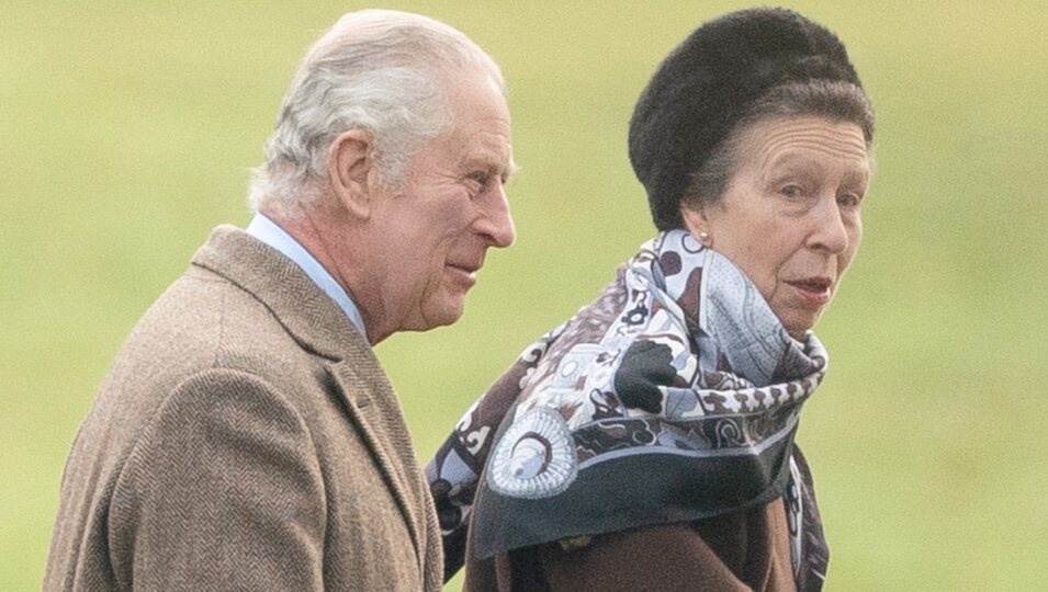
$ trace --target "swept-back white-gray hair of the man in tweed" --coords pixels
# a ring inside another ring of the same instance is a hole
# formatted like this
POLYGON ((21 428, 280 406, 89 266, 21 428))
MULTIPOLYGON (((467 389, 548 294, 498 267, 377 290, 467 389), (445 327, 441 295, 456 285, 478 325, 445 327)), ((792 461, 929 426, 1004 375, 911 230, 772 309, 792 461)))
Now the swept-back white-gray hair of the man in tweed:
POLYGON ((489 77, 495 61, 451 26, 418 14, 343 15, 306 53, 284 95, 266 162, 251 171, 248 202, 288 217, 312 209, 327 186, 327 152, 341 133, 368 132, 381 182, 396 190, 415 151, 451 125, 453 75, 489 77))

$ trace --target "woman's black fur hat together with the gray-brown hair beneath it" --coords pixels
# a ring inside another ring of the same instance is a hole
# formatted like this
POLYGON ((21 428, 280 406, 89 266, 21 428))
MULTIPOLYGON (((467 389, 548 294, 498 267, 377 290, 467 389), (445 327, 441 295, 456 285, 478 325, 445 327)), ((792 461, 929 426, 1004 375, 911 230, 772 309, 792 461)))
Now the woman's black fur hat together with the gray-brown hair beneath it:
POLYGON ((867 144, 872 140, 872 110, 847 50, 819 23, 791 10, 758 8, 688 35, 652 76, 630 119, 630 162, 655 226, 683 227, 680 202, 692 189, 719 197, 733 160, 728 138, 744 118, 776 113, 854 121, 867 144), (858 100, 846 99, 856 93, 858 100), (866 115, 853 118, 855 113, 866 115), (711 159, 726 161, 708 167, 711 159))

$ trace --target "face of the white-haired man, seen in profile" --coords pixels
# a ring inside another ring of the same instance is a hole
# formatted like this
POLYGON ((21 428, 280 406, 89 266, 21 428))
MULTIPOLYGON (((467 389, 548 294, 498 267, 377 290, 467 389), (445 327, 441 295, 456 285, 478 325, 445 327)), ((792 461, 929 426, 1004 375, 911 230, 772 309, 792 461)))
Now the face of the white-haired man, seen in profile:
POLYGON ((458 320, 488 247, 514 241, 504 190, 512 172, 506 101, 487 77, 450 86, 451 130, 418 150, 403 191, 374 200, 369 251, 375 260, 364 263, 371 273, 360 296, 391 331, 458 320))

